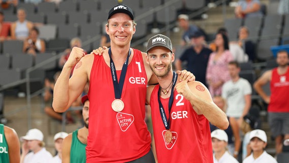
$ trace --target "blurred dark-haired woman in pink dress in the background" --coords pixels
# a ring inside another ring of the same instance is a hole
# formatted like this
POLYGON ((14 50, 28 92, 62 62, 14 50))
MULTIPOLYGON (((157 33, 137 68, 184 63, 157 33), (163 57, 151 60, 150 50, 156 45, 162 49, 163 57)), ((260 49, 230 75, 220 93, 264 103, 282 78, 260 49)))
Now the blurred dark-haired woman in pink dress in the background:
POLYGON ((226 35, 217 34, 215 44, 217 50, 209 57, 206 73, 206 80, 212 97, 221 95, 223 84, 230 79, 228 63, 233 60, 226 35))

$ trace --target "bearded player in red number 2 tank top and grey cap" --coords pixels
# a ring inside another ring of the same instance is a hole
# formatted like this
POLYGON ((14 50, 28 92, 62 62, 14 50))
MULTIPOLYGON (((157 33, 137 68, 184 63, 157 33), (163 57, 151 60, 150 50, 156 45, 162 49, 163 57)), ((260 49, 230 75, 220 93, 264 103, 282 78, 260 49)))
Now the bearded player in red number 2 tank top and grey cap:
POLYGON ((204 84, 178 80, 171 68, 175 54, 168 37, 150 38, 147 53, 147 63, 159 83, 147 89, 158 161, 213 162, 209 122, 226 129, 225 113, 204 84))

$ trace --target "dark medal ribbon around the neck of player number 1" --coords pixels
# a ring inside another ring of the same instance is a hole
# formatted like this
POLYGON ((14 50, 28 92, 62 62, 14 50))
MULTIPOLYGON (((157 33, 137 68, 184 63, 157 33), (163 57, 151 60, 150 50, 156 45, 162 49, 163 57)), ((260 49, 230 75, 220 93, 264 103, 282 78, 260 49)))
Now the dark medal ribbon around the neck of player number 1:
POLYGON ((111 58, 111 49, 110 48, 108 49, 108 55, 110 58, 110 71, 111 71, 111 76, 112 76, 115 99, 121 99, 122 97, 122 92, 123 92, 123 87, 124 87, 124 82, 125 82, 125 77, 126 77, 126 72, 127 72, 127 66, 128 66, 128 59, 130 57, 130 54, 131 54, 131 50, 129 48, 126 62, 124 63, 123 68, 122 68, 122 73, 121 73, 120 83, 119 83, 117 71, 115 70, 115 66, 111 58))

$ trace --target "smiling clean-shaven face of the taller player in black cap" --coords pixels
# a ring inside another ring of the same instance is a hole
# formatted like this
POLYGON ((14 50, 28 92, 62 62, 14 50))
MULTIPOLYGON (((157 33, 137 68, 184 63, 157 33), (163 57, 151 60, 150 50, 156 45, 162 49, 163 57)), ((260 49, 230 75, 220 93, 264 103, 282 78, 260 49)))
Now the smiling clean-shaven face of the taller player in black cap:
POLYGON ((113 46, 130 45, 133 34, 135 33, 135 25, 129 15, 125 13, 114 14, 108 19, 105 26, 106 33, 110 37, 110 43, 113 46))

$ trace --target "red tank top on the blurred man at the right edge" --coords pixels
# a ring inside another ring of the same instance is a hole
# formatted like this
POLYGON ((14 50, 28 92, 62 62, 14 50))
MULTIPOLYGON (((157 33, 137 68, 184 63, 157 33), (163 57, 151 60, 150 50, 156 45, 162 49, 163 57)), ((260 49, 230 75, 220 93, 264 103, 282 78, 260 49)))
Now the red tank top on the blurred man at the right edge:
POLYGON ((270 103, 268 112, 289 112, 289 71, 279 75, 277 68, 272 70, 272 79, 270 83, 270 103))

